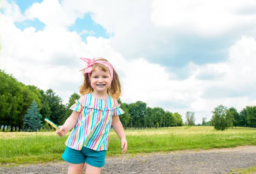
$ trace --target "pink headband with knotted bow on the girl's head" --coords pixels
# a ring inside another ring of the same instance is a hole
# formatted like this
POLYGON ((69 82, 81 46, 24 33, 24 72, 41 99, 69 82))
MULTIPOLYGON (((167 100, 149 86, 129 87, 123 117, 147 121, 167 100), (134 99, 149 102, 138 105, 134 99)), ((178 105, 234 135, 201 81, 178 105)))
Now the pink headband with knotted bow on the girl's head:
POLYGON ((105 65, 106 67, 108 67, 108 69, 110 71, 111 81, 113 80, 113 72, 114 72, 114 70, 113 70, 113 67, 110 65, 110 63, 108 63, 106 61, 102 61, 102 60, 95 61, 95 58, 87 59, 87 58, 80 57, 80 59, 82 59, 84 62, 87 63, 87 67, 84 69, 84 74, 88 73, 89 80, 90 80, 90 73, 93 70, 92 66, 94 64, 96 64, 96 63, 102 64, 102 65, 105 65))

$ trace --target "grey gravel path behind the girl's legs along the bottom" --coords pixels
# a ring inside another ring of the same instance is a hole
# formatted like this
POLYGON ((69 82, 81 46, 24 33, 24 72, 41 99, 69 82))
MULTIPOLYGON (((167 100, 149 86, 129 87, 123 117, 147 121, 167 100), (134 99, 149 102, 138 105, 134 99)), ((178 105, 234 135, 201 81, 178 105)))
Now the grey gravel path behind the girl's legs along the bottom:
MULTIPOLYGON (((256 166, 256 146, 107 157, 102 174, 228 174, 256 166)), ((1 174, 66 174, 65 162, 0 168, 1 174)))

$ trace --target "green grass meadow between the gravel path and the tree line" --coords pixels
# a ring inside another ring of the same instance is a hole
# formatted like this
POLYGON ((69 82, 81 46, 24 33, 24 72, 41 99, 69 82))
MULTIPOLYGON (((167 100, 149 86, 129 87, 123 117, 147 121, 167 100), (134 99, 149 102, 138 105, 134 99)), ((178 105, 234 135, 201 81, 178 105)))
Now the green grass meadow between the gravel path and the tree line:
MULTIPOLYGON (((256 145, 256 130, 217 131, 211 126, 125 130, 129 154, 169 152, 182 149, 212 149, 256 145)), ((61 160, 67 136, 55 132, 0 132, 1 165, 19 165, 61 160)), ((107 156, 120 155, 121 145, 111 129, 107 156)))

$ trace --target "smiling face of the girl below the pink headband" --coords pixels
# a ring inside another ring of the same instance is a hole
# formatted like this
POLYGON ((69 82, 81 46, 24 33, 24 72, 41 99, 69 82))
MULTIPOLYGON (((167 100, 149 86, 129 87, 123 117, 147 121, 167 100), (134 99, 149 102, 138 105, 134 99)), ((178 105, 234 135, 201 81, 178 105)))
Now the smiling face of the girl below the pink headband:
POLYGON ((96 68, 96 70, 90 74, 90 84, 95 91, 107 92, 111 85, 110 72, 100 71, 99 68, 96 68))

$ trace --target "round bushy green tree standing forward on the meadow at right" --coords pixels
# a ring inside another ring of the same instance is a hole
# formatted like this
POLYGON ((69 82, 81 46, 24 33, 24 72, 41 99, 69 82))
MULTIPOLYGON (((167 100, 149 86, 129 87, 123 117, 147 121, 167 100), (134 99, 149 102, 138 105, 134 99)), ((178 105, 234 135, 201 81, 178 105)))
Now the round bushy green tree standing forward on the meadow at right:
POLYGON ((233 125, 233 117, 222 104, 214 108, 211 122, 215 129, 225 130, 233 125))

